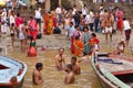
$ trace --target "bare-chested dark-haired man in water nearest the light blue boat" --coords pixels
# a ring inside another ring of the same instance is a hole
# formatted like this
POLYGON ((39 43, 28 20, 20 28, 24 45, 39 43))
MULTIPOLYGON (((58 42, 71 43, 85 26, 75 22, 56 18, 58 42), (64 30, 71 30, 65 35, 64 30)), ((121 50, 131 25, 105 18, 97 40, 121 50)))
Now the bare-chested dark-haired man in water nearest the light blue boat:
POLYGON ((33 70, 32 74, 32 80, 34 85, 41 85, 43 82, 42 76, 41 76, 41 70, 43 69, 43 64, 42 63, 37 63, 35 64, 35 69, 33 70))

